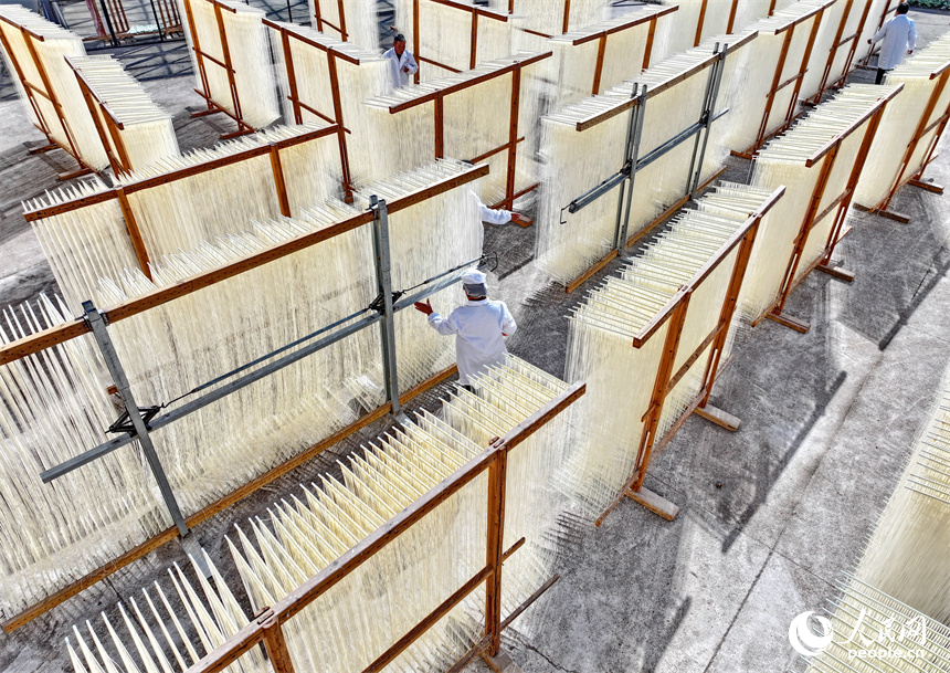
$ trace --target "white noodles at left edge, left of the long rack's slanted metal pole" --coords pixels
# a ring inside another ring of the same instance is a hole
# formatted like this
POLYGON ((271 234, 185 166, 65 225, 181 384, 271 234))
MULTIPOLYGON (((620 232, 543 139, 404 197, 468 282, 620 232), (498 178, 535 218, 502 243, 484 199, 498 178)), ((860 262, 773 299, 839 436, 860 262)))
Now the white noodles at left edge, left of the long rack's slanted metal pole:
MULTIPOLYGON (((41 296, 4 309, 0 343, 68 318, 41 296)), ((19 612, 168 527, 136 446, 52 484, 40 472, 107 441, 118 416, 89 338, 0 367, 0 607, 19 612)))

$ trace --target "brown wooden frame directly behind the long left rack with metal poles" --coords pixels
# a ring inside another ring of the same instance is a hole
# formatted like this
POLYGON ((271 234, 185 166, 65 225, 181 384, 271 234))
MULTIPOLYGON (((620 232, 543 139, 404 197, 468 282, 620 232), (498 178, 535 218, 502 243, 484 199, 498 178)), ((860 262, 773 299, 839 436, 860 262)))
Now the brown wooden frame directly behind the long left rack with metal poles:
POLYGON ((277 203, 281 208, 281 214, 289 218, 292 215, 291 203, 287 196, 286 182, 284 180, 284 169, 281 162, 281 150, 287 147, 293 147, 295 145, 300 145, 303 143, 308 143, 310 140, 316 140, 318 138, 323 138, 325 136, 334 134, 337 134, 336 126, 328 126, 326 128, 312 130, 305 134, 300 134, 299 136, 295 136, 293 138, 285 138, 284 140, 268 143, 260 147, 252 147, 251 149, 221 157, 219 159, 210 159, 208 161, 202 161, 201 164, 196 164, 194 166, 189 166, 151 178, 145 178, 137 182, 131 182, 129 185, 125 185, 118 188, 106 189, 88 197, 82 197, 72 201, 65 201, 63 203, 57 203, 49 208, 41 208, 39 210, 25 213, 23 218, 28 222, 32 222, 35 220, 51 218, 74 210, 80 210, 82 208, 86 208, 87 206, 94 206, 96 203, 103 203, 115 199, 116 201, 118 201, 119 209, 123 214, 123 220, 125 221, 126 231, 128 232, 129 240, 131 242, 133 249, 135 250, 136 259, 138 260, 139 269, 141 269, 141 272, 149 280, 151 280, 151 271, 148 267, 150 260, 149 253, 145 245, 145 241, 141 238, 141 231, 139 230, 135 211, 129 203, 128 194, 135 193, 137 191, 151 189, 160 185, 168 185, 169 182, 175 182, 176 180, 181 180, 183 178, 190 178, 192 176, 208 172, 209 170, 223 168, 224 166, 240 164, 241 161, 246 161, 247 159, 253 159, 254 157, 270 155, 271 171, 274 178, 274 190, 277 196, 277 203))

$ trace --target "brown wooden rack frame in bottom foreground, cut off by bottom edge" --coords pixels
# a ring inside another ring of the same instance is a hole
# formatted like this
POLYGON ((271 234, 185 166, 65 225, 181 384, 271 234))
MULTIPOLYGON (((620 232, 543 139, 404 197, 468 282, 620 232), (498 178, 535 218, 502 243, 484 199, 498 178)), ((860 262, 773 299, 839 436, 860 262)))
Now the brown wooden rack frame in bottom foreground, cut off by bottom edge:
MULTIPOLYGON (((270 608, 265 608, 251 623, 215 648, 210 654, 191 666, 188 673, 218 673, 249 652, 252 648, 263 644, 275 673, 294 673, 294 662, 287 648, 282 624, 326 593, 331 587, 344 580, 372 556, 383 549, 393 539, 412 528, 422 518, 448 500, 452 495, 472 483, 481 474, 488 472, 488 488, 486 508, 488 525, 486 532, 486 564, 468 581, 435 608, 419 624, 397 640, 376 661, 367 666, 363 673, 378 673, 390 662, 415 642, 425 631, 461 603, 473 591, 485 583, 485 635, 468 651, 450 672, 461 671, 476 656, 484 655, 490 660, 499 656, 502 632, 537 600, 555 581, 553 576, 516 608, 507 618, 502 618, 503 562, 520 547, 521 540, 510 549, 503 547, 505 539, 505 508, 507 491, 508 453, 541 429, 551 419, 567 409, 585 390, 584 383, 574 383, 540 410, 532 413, 505 437, 496 440, 485 451, 468 461, 451 476, 432 487, 425 495, 412 505, 397 514, 380 526, 368 537, 360 540, 349 551, 327 566, 324 570, 309 578, 300 587, 270 608)), ((498 667, 496 666, 496 670, 498 667)), ((303 672, 302 672, 303 673, 303 672)))

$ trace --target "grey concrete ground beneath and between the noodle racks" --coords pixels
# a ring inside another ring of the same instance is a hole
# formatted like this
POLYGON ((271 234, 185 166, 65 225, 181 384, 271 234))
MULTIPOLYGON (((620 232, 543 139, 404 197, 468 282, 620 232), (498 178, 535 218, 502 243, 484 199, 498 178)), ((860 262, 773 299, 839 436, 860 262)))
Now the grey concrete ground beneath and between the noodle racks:
MULTIPOLYGON (((914 18, 921 41, 950 25, 946 13, 914 18)), ((214 140, 223 122, 190 119, 183 109, 199 104, 189 78, 148 86, 175 111, 183 148, 214 140)), ((30 133, 19 104, 0 101, 0 305, 55 287, 19 201, 55 187, 68 161, 57 151, 27 155, 21 143, 33 139, 30 133)), ((928 179, 950 185, 948 157, 928 169, 928 179)), ((745 181, 748 167, 733 159, 727 177, 745 181)), ((526 673, 789 669, 792 618, 826 607, 841 574, 858 559, 950 359, 950 208, 946 197, 916 188, 902 190, 894 208, 909 213, 910 223, 854 215, 836 255, 857 272, 853 284, 814 273, 793 293, 788 311, 811 320, 806 335, 769 320, 741 335, 712 399, 742 419, 740 430, 728 433, 694 417, 655 456, 646 485, 682 507, 677 519, 667 523, 626 501, 601 528, 582 532, 561 580, 504 638, 526 673)), ((486 249, 499 254, 496 294, 520 325, 509 348, 560 375, 563 316, 583 288, 566 295, 539 285, 529 263, 532 240, 530 229, 496 227, 486 249)), ((418 403, 435 406, 439 392, 418 403)), ((221 536, 234 522, 262 514, 383 429, 383 422, 368 428, 193 536, 231 568, 221 536)), ((0 671, 66 670, 62 639, 72 624, 97 619, 99 610, 115 613, 116 601, 182 559, 179 545, 167 545, 0 634, 0 671)), ((481 662, 468 667, 483 671, 481 662)))

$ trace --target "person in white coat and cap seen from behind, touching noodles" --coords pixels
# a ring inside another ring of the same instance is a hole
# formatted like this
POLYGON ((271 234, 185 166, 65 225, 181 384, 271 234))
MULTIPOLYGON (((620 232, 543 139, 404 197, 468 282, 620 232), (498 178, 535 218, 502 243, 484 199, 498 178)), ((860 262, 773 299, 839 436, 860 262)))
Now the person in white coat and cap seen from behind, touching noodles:
POLYGON ((505 337, 515 334, 518 326, 505 302, 488 299, 485 274, 467 271, 462 275, 462 287, 468 303, 457 307, 447 318, 432 309, 432 304, 416 302, 415 308, 429 316, 429 324, 443 335, 455 335, 455 358, 458 362, 458 382, 472 390, 474 375, 484 374, 505 359, 505 337))

